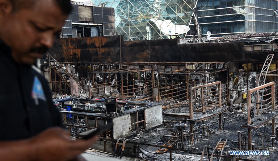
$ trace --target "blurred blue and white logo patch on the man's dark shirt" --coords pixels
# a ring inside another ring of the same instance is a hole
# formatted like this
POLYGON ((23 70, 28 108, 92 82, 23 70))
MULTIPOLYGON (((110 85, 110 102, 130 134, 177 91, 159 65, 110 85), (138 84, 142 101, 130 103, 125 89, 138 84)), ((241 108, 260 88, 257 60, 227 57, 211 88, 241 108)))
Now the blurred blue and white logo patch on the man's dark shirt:
POLYGON ((40 80, 37 76, 34 78, 33 88, 32 88, 32 98, 35 100, 35 104, 38 105, 38 99, 46 101, 44 95, 44 89, 40 83, 40 80))

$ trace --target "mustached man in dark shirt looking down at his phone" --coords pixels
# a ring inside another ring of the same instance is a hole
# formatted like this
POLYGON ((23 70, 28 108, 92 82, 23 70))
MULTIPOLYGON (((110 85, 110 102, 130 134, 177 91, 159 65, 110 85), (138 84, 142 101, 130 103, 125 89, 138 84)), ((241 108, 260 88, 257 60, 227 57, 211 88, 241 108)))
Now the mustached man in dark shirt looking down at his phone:
POLYGON ((71 11, 70 0, 0 0, 0 160, 75 159, 47 81, 34 69, 71 11))

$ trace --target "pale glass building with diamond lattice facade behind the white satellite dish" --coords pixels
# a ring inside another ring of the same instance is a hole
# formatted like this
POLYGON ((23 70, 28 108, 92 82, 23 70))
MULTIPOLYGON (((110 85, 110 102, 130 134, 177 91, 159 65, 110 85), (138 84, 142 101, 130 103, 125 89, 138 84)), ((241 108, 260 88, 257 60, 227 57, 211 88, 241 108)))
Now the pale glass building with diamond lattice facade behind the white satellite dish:
POLYGON ((174 24, 189 25, 196 0, 92 0, 94 6, 115 8, 118 34, 124 40, 169 39, 150 21, 171 20, 174 24))

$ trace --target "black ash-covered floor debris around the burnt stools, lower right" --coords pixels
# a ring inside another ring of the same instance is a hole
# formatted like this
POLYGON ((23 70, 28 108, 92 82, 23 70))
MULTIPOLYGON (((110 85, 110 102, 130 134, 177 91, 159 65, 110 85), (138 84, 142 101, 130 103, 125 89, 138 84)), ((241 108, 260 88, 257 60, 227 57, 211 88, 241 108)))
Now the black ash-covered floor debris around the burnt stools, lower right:
MULTIPOLYGON (((187 109, 187 106, 183 106, 181 109, 183 109, 183 111, 186 112, 185 109, 187 109)), ((173 109, 166 109, 164 110, 164 112, 177 112, 179 111, 178 108, 173 108, 173 109)), ((227 111, 225 111, 223 114, 223 118, 226 119, 225 124, 223 125, 223 130, 219 130, 218 129, 218 117, 214 117, 214 118, 209 118, 204 120, 204 125, 207 126, 209 125, 209 130, 211 131, 210 134, 210 139, 209 139, 209 147, 214 148, 217 144, 217 142, 220 140, 220 138, 222 139, 228 139, 227 144, 230 146, 230 150, 231 149, 238 149, 238 144, 236 142, 238 142, 238 131, 247 131, 247 129, 243 129, 240 127, 240 125, 242 124, 242 122, 246 122, 247 120, 247 116, 245 112, 236 110, 236 109, 228 109, 227 111), (213 126, 211 126, 211 124, 213 124, 213 126)), ((260 119, 264 119, 263 117, 258 118, 260 119)), ((278 119, 276 118, 276 121, 278 119)), ((147 144, 154 144, 154 145, 160 145, 162 146, 163 144, 166 143, 166 141, 161 140, 160 138, 160 133, 163 130, 167 130, 169 128, 175 128, 174 124, 182 121, 182 122, 186 122, 186 120, 184 118, 178 118, 178 117, 169 117, 169 116, 163 116, 163 125, 162 126, 158 126, 152 130, 148 130, 145 132, 139 131, 139 134, 135 134, 132 137, 130 137, 130 139, 132 139, 135 142, 142 142, 142 143, 147 143, 147 144)), ((194 128, 200 128, 201 126, 203 126, 202 122, 197 122, 197 124, 194 126, 194 128)), ((186 123, 188 125, 188 128, 186 128, 184 130, 185 133, 189 132, 189 123, 186 123)), ((196 138, 194 138, 194 143, 196 146, 196 150, 193 150, 193 152, 197 152, 197 153, 202 153, 204 146, 208 146, 208 142, 207 141, 202 141, 200 142, 201 139, 201 129, 197 130, 199 131, 199 137, 198 140, 196 140, 196 138)), ((258 134, 260 132, 265 132, 267 133, 267 137, 270 138, 270 136, 272 135, 272 127, 269 124, 263 125, 261 126, 257 131, 253 130, 252 133, 252 143, 256 143, 257 139, 258 139, 258 134)), ((269 151, 270 151, 270 155, 268 156, 263 156, 263 157, 259 157, 259 156, 241 156, 242 158, 246 158, 246 159, 252 159, 252 160, 262 160, 262 161, 268 161, 268 160, 272 160, 273 157, 277 157, 277 147, 271 147, 271 139, 268 139, 268 144, 269 144, 269 151)), ((188 142, 185 142, 185 145, 188 145, 188 142)), ((277 142, 274 143, 274 146, 277 146, 277 142)), ((146 150, 148 150, 150 153, 146 152, 148 155, 152 155, 153 153, 155 153, 158 148, 156 147, 147 147, 147 146, 142 146, 143 148, 146 148, 146 150)), ((181 148, 180 144, 175 145, 175 148, 181 148)), ((186 148, 187 149, 187 148, 186 148)), ((243 147, 242 150, 248 150, 248 147, 243 147)), ((173 160, 200 160, 200 155, 193 155, 190 154, 191 150, 189 149, 189 151, 187 152, 181 152, 181 151, 172 151, 172 157, 173 160)), ((152 155, 154 156, 156 159, 150 159, 150 160, 159 160, 159 161, 166 161, 169 160, 169 151, 162 154, 162 155, 152 155)), ((225 151, 223 152, 223 155, 225 155, 225 151)), ((203 160, 206 160, 206 158, 204 157, 203 160)))

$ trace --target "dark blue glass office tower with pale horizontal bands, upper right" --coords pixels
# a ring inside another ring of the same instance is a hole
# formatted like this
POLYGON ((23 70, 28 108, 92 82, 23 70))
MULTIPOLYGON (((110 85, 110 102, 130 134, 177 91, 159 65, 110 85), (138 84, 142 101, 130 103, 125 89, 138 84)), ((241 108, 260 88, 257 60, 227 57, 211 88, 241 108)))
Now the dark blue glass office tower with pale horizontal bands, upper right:
POLYGON ((196 8, 202 34, 278 31, 277 0, 198 0, 196 8))

